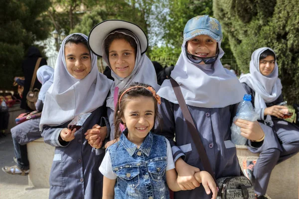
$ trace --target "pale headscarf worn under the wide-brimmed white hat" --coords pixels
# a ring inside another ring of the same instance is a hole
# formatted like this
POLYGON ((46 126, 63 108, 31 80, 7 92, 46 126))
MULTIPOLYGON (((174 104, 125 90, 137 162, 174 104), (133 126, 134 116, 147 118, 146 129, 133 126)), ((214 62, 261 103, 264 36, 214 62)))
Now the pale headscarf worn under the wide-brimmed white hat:
MULTIPOLYGON (((144 84, 149 84, 152 86, 156 91, 160 88, 160 86, 157 84, 157 77, 156 73, 153 67, 153 64, 149 60, 149 57, 144 53, 141 54, 141 48, 140 48, 140 42, 138 37, 131 31, 127 29, 117 29, 115 31, 112 31, 110 34, 114 34, 116 32, 120 32, 126 35, 129 35, 133 37, 137 43, 137 53, 136 53, 136 60, 135 60, 135 66, 133 71, 128 77, 121 78, 119 77, 113 70, 111 69, 111 76, 114 78, 114 83, 110 89, 110 94, 107 98, 107 107, 111 108, 112 110, 115 110, 114 108, 114 90, 115 87, 119 87, 119 92, 133 82, 140 82, 144 84)), ((110 35, 108 34, 106 38, 110 35)), ((105 40, 106 40, 105 38, 105 40)), ((102 50, 103 50, 103 59, 108 64, 108 66, 111 68, 108 56, 105 51, 105 40, 102 44, 102 50)))

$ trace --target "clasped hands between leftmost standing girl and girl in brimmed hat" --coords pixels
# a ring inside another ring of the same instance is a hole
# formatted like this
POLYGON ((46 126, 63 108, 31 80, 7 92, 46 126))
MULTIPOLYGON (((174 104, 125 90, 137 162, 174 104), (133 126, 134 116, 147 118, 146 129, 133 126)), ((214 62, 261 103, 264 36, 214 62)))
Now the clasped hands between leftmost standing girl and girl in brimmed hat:
POLYGON ((99 149, 102 147, 103 140, 106 138, 107 127, 101 127, 96 124, 92 129, 87 130, 84 135, 86 135, 85 139, 91 147, 99 149))

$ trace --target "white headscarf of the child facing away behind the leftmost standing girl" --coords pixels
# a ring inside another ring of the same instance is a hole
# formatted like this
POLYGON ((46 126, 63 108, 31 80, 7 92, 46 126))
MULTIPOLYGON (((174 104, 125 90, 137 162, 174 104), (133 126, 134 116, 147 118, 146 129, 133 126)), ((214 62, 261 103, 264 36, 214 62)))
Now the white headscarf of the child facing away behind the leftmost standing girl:
POLYGON ((38 81, 42 84, 38 93, 38 99, 41 100, 43 103, 45 101, 47 90, 53 84, 53 73, 54 69, 48 65, 40 66, 36 71, 36 77, 38 81))

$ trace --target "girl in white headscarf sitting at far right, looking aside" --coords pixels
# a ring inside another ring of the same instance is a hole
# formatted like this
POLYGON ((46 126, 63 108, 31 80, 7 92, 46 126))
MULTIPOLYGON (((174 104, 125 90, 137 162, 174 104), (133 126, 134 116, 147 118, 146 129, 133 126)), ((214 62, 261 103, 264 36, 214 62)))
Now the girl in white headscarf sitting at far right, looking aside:
POLYGON ((252 95, 252 104, 259 114, 261 126, 269 126, 265 131, 264 144, 259 149, 250 149, 260 153, 255 161, 244 161, 245 174, 255 184, 258 199, 266 199, 270 175, 275 165, 287 160, 299 151, 299 128, 283 119, 292 115, 284 102, 282 84, 278 77, 276 55, 271 48, 263 47, 252 53, 250 73, 240 77, 245 90, 252 95))

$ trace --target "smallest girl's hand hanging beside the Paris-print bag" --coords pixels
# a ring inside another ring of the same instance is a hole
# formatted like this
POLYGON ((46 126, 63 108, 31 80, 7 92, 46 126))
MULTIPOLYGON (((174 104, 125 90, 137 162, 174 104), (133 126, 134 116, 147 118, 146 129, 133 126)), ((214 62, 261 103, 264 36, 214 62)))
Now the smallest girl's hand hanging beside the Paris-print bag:
POLYGON ((218 188, 213 177, 206 171, 197 172, 194 177, 198 183, 202 184, 207 195, 210 195, 212 191, 212 199, 216 199, 218 188))

